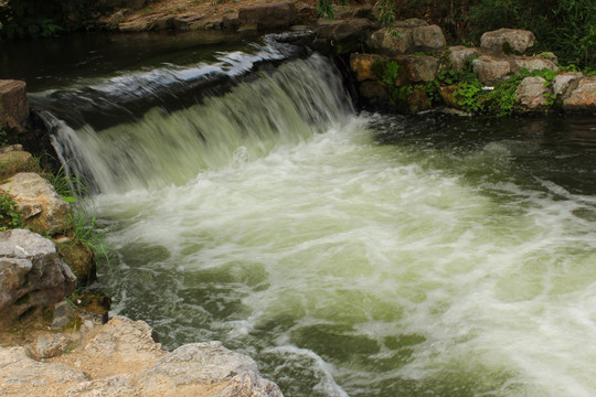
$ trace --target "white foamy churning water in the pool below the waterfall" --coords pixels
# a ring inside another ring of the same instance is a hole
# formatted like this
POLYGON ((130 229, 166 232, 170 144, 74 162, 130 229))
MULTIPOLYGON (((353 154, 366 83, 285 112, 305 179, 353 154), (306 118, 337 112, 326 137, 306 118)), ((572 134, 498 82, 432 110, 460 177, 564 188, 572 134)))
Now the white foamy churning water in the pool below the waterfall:
POLYGON ((289 395, 596 393, 592 204, 469 185, 365 126, 96 197, 124 253, 104 277, 146 300, 125 312, 253 354, 289 395))

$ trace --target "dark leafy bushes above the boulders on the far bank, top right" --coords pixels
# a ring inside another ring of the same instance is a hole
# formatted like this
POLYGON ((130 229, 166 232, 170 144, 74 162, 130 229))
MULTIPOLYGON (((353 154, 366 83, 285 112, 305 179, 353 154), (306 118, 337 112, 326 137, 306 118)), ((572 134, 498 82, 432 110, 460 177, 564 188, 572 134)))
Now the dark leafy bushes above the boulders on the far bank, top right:
MULTIPOLYGON (((332 0, 318 0, 329 15, 332 0)), ((596 1, 594 0, 379 0, 379 19, 421 18, 441 26, 453 44, 479 45, 482 33, 500 28, 532 31, 538 51, 553 51, 561 63, 596 71, 596 1)))

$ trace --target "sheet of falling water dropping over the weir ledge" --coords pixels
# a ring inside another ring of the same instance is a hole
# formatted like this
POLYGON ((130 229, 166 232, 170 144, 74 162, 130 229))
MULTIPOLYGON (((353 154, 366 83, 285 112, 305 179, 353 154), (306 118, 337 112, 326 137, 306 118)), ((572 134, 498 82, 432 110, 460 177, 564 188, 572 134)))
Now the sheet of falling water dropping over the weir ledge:
POLYGON ((183 184, 201 170, 304 140, 342 122, 350 104, 333 67, 313 55, 185 109, 152 108, 135 122, 104 130, 51 122, 68 170, 96 192, 123 192, 183 184))

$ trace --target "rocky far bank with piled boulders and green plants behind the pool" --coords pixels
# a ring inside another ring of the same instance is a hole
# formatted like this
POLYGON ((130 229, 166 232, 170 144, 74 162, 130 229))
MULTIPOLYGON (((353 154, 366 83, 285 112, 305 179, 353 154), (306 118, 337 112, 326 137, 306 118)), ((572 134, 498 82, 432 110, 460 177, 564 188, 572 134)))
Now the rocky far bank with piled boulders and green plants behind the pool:
POLYGON ((319 18, 310 2, 153 2, 108 18, 121 32, 156 30, 300 30, 315 33, 302 44, 341 60, 361 108, 419 112, 445 107, 464 114, 596 110, 596 76, 558 65, 556 54, 535 53, 530 31, 486 32, 479 46, 450 45, 441 26, 423 20, 379 23, 370 3, 337 7, 319 18))

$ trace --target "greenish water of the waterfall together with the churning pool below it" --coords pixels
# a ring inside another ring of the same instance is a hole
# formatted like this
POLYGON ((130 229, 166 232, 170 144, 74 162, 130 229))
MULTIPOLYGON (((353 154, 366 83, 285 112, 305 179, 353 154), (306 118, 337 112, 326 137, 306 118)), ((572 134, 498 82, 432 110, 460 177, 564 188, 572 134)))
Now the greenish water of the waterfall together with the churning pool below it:
POLYGON ((123 122, 70 111, 45 117, 115 248, 99 285, 166 346, 223 341, 286 396, 596 395, 595 117, 359 115, 316 54, 123 122))

